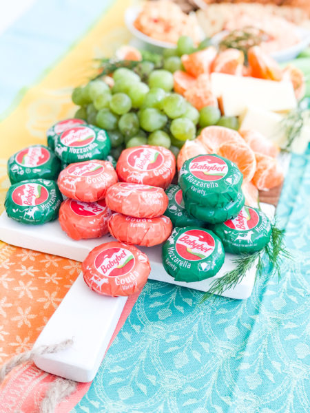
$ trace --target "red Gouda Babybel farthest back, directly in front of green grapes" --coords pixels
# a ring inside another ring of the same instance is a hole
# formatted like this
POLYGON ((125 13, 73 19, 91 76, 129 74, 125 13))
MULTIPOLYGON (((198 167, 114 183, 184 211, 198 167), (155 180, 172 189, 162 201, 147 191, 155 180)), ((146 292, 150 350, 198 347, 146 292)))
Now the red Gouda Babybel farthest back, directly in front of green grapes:
POLYGON ((116 172, 121 182, 169 187, 176 173, 176 158, 164 147, 141 145, 125 149, 118 158, 116 172))

